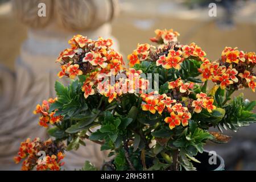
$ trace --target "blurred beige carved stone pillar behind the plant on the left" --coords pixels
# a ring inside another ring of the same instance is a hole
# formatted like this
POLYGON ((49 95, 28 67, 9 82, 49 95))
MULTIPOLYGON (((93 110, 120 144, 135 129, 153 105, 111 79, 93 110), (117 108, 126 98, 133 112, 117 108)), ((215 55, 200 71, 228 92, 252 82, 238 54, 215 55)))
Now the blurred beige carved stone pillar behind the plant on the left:
MULTIPOLYGON (((28 26, 28 38, 15 62, 15 73, 0 67, 3 80, 0 163, 5 164, 0 169, 19 169, 13 156, 26 138, 48 138, 32 111, 36 104, 55 97, 54 83, 59 71, 55 60, 68 47, 68 40, 76 34, 90 39, 98 36, 114 39, 110 21, 118 12, 117 0, 13 0, 12 3, 16 17, 28 26), (46 5, 46 16, 38 15, 39 3, 46 5)), ((114 42, 114 48, 118 49, 117 40, 114 42)), ((64 168, 79 169, 85 160, 100 166, 105 158, 100 146, 88 140, 86 147, 67 154, 64 168)))

